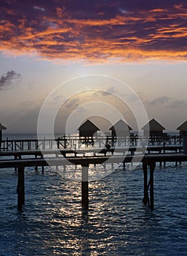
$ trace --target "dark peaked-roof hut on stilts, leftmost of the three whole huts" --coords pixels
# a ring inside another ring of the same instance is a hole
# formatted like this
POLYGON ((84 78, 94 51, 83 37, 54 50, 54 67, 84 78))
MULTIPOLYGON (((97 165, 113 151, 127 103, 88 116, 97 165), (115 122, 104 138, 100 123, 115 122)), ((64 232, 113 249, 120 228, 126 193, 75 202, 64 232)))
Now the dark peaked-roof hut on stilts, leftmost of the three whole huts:
POLYGON ((98 127, 96 127, 95 124, 93 124, 89 119, 85 121, 81 126, 79 127, 79 138, 81 139, 82 143, 85 143, 87 146, 91 144, 94 145, 93 141, 93 135, 95 132, 100 131, 98 127))

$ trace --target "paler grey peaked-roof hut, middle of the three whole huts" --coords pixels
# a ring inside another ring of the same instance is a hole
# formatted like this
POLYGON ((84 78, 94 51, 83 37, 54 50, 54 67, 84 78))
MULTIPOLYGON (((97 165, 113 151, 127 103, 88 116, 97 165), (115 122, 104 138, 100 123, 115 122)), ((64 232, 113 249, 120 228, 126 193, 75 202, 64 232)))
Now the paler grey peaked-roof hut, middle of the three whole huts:
POLYGON ((112 137, 127 137, 130 136, 130 130, 132 130, 132 128, 120 119, 109 130, 111 130, 112 137))

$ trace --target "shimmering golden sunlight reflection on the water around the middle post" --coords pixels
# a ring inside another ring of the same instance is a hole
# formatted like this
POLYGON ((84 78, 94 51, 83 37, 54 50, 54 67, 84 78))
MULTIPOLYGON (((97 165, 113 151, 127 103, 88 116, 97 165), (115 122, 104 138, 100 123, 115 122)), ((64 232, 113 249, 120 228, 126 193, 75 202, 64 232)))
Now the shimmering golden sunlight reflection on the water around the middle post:
MULTIPOLYGON (((106 255, 109 248, 113 248, 114 236, 108 235, 108 219, 102 220, 107 207, 107 196, 103 193, 98 200, 97 190, 101 189, 102 182, 89 183, 90 210, 88 213, 81 211, 81 183, 68 181, 63 187, 52 185, 51 190, 55 191, 55 200, 47 204, 49 211, 50 229, 54 230, 51 237, 55 239, 56 229, 58 239, 55 241, 54 253, 63 247, 63 255, 106 255), (95 201, 96 200, 96 201, 95 201), (94 202, 92 204, 91 202, 94 202), (100 222, 97 220, 100 219, 100 222), (101 222, 102 220, 102 222, 101 222), (59 230, 60 227, 60 230, 59 230), (59 239, 59 236, 61 239, 59 239), (100 253, 98 253, 98 250, 100 253), (72 254, 71 254, 72 255, 72 254)), ((54 239, 45 241, 44 247, 52 246, 54 239)))

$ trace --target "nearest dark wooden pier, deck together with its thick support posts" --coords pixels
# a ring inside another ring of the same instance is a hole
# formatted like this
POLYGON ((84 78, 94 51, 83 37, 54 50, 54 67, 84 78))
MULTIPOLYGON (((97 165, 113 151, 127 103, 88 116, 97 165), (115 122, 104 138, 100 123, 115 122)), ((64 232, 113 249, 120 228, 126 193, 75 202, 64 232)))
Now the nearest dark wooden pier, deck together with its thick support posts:
MULTIPOLYGON (((52 151, 49 151, 50 153, 52 151)), ((187 162, 187 154, 183 153, 169 153, 169 154, 139 154, 139 155, 111 155, 111 156, 92 156, 92 157, 40 157, 33 159, 3 159, 0 160, 0 168, 17 167, 18 180, 17 180, 17 210, 22 211, 25 203, 25 178, 24 169, 29 166, 47 166, 47 165, 81 165, 82 178, 81 181, 81 196, 82 207, 85 211, 88 210, 88 167, 91 164, 109 163, 124 163, 124 162, 143 162, 143 175, 144 175, 144 197, 143 203, 148 203, 151 210, 154 210, 154 169, 156 162, 187 162), (150 166, 149 181, 147 170, 150 166), (150 191, 150 198, 148 195, 150 191), (86 200, 86 201, 85 201, 86 200)))

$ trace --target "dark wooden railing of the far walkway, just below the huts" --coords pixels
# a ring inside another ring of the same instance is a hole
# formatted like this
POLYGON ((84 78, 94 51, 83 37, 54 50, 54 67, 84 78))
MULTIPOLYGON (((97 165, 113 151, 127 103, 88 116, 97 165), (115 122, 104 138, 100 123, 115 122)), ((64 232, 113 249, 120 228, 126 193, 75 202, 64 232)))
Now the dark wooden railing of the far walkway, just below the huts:
POLYGON ((79 136, 63 136, 60 138, 42 138, 42 139, 23 139, 23 140, 1 140, 1 151, 20 151, 33 149, 57 149, 57 148, 81 148, 96 147, 102 148, 106 146, 161 146, 161 145, 182 145, 183 138, 180 135, 167 135, 161 137, 142 137, 133 135, 130 137, 112 137, 112 136, 96 136, 96 137, 79 137, 79 136))

